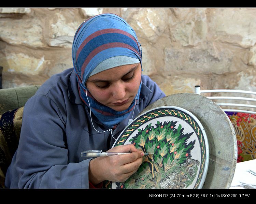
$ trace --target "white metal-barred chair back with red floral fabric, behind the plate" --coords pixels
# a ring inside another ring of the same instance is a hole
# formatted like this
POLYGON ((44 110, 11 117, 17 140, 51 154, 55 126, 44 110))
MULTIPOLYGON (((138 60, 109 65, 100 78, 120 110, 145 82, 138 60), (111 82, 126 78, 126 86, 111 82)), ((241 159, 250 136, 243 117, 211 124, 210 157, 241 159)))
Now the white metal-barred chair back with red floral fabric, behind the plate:
POLYGON ((236 133, 237 162, 256 159, 256 92, 235 89, 201 90, 195 93, 205 96, 223 109, 236 133))

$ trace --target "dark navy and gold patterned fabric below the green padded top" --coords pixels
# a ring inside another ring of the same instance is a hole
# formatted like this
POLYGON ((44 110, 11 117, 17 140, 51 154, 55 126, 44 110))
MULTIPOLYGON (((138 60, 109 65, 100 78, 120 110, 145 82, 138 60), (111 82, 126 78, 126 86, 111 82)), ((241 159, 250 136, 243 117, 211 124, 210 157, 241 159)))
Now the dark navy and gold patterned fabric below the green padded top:
POLYGON ((18 147, 24 107, 0 115, 0 188, 4 188, 5 174, 18 147))

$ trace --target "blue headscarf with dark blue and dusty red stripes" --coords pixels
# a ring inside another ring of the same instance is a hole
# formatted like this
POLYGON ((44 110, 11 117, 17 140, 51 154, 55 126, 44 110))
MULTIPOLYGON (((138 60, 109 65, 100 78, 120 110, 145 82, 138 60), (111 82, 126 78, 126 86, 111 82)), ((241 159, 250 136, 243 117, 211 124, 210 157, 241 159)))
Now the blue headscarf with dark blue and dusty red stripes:
POLYGON ((120 112, 96 101, 86 89, 87 79, 94 74, 126 64, 142 65, 141 45, 126 21, 110 13, 87 19, 75 33, 72 57, 80 97, 87 106, 90 104, 91 112, 107 127, 128 117, 139 99, 141 86, 130 107, 120 112))

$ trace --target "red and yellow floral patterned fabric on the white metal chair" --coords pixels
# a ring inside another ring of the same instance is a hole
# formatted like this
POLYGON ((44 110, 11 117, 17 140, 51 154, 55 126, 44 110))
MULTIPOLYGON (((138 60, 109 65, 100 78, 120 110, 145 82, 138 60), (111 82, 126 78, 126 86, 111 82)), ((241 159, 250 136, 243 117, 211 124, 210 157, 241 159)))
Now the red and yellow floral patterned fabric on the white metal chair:
POLYGON ((256 115, 226 112, 237 136, 237 162, 256 159, 256 115))

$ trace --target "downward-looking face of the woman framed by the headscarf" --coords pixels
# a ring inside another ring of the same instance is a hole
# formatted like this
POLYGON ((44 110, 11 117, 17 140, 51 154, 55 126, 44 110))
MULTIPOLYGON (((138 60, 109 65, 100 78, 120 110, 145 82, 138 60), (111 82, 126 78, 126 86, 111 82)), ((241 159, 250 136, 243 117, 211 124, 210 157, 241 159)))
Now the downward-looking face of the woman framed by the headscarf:
POLYGON ((87 79, 86 87, 101 104, 124 111, 132 103, 141 82, 141 65, 128 64, 102 71, 87 79))

